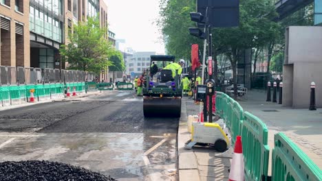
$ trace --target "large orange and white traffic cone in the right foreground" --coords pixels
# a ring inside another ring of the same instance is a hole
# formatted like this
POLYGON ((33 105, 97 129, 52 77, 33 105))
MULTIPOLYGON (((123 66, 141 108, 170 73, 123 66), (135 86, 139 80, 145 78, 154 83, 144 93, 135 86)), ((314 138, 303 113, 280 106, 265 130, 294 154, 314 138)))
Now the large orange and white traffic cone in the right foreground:
POLYGON ((230 166, 229 181, 244 181, 244 157, 243 148, 241 145, 241 136, 237 136, 234 156, 230 166))

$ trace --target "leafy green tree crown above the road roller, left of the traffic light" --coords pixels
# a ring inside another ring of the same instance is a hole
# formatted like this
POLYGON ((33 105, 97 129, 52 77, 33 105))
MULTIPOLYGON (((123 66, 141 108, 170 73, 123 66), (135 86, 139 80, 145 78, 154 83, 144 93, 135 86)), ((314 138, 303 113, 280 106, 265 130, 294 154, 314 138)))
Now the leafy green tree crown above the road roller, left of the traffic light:
POLYGON ((158 26, 163 34, 167 53, 176 58, 190 60, 191 44, 202 43, 189 34, 189 27, 195 26, 189 13, 194 11, 195 1, 160 0, 158 26))

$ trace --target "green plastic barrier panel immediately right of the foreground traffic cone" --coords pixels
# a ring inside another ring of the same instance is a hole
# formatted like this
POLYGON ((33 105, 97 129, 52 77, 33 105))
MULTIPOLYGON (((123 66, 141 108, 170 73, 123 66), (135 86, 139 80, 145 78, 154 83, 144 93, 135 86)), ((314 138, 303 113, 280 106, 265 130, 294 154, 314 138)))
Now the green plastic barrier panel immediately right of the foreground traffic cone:
POLYGON ((266 124, 253 114, 244 112, 241 139, 245 180, 267 180, 270 147, 266 124))

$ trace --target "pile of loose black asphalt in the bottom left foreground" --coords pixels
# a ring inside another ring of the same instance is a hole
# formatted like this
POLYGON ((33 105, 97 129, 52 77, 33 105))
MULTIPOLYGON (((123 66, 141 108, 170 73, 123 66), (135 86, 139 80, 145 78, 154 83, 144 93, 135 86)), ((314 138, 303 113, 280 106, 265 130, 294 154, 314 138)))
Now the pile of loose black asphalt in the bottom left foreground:
POLYGON ((0 180, 113 181, 115 179, 81 167, 66 165, 60 162, 28 160, 20 162, 0 162, 0 180))

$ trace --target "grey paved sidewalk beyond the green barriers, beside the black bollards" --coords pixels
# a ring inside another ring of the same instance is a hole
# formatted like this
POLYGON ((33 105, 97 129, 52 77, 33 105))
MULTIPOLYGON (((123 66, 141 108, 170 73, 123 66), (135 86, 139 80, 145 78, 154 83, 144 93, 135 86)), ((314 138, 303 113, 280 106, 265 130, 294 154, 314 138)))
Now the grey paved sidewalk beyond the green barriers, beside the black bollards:
MULTIPOLYGON (((277 96, 278 98, 278 96, 277 96)), ((322 110, 292 109, 266 102, 264 90, 250 90, 239 101, 244 111, 259 117, 268 126, 268 144, 274 147, 274 134, 284 132, 322 169, 322 110)), ((271 158, 272 152, 270 152, 271 158)), ((270 167, 269 167, 270 168, 270 167)), ((270 170, 269 170, 270 173, 270 170)))

